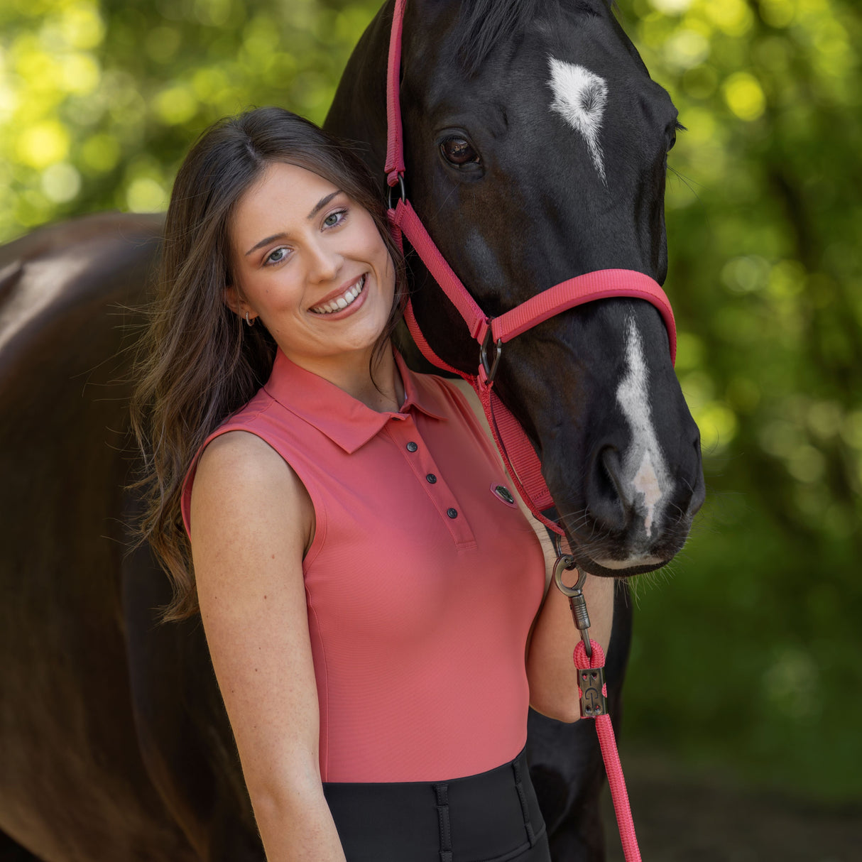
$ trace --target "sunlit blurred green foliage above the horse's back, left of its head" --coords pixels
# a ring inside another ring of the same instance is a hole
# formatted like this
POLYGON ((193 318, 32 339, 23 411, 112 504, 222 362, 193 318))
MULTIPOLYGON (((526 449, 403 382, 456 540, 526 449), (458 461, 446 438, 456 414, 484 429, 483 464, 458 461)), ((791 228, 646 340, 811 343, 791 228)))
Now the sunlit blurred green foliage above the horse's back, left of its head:
POLYGON ((166 209, 185 150, 219 117, 281 104, 322 122, 378 5, 3 0, 0 241, 166 209))

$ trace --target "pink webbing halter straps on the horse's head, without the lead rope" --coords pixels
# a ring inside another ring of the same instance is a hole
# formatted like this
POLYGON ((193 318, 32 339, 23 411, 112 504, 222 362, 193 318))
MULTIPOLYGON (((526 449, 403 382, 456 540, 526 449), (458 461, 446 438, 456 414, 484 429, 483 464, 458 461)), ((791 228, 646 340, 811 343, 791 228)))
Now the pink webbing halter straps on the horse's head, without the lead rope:
POLYGON ((476 390, 488 419, 491 433, 497 443, 497 448, 503 456, 503 461, 518 493, 540 522, 554 532, 563 535, 563 529, 559 524, 550 521, 541 514, 541 509, 548 509, 553 505, 553 500, 547 489, 547 484, 545 484, 545 479, 541 475, 539 458, 520 422, 515 419, 515 416, 500 401, 497 393, 493 390, 494 375, 497 372, 503 345, 515 338, 516 335, 534 327, 537 323, 546 321, 549 317, 553 317, 553 315, 566 309, 572 309, 576 305, 608 297, 636 297, 653 303, 661 312, 670 340, 671 360, 675 360, 677 329, 673 320, 671 303, 665 296, 665 291, 653 278, 634 270, 614 269, 587 272, 577 278, 569 278, 543 290, 534 297, 530 297, 526 302, 499 317, 490 318, 484 314, 484 311, 478 307, 464 284, 461 284, 458 276, 447 264, 446 259, 440 254, 440 250, 434 245, 434 240, 428 235, 428 231, 422 225, 419 216, 416 215, 415 209, 404 193, 405 168, 398 78, 401 71, 401 34, 405 2, 406 0, 396 0, 395 3, 386 81, 388 134, 384 171, 390 188, 396 184, 401 187, 401 198, 394 208, 390 208, 389 219, 397 240, 401 241, 401 234, 407 237, 410 245, 422 259, 422 263, 428 268, 428 272, 434 276, 434 280, 458 309, 459 315, 470 330, 471 337, 478 341, 480 360, 476 374, 459 371, 434 353, 416 322, 412 303, 408 302, 404 316, 410 335, 415 340, 416 346, 422 351, 422 355, 438 368, 458 374, 476 390), (489 356, 491 346, 494 350, 493 358, 489 356))

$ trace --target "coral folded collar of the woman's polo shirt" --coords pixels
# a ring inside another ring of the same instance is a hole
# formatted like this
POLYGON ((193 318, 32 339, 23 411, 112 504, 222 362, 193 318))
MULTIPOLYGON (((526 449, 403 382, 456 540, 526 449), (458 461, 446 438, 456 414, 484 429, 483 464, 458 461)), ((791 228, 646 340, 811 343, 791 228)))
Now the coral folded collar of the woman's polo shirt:
POLYGON ((391 419, 403 421, 413 410, 445 422, 445 405, 435 384, 424 375, 414 375, 404 364, 401 354, 397 350, 393 353, 405 395, 398 413, 378 413, 366 407, 335 384, 292 362, 281 348, 276 353, 272 374, 264 390, 282 407, 322 431, 348 454, 364 446, 386 422, 391 419))

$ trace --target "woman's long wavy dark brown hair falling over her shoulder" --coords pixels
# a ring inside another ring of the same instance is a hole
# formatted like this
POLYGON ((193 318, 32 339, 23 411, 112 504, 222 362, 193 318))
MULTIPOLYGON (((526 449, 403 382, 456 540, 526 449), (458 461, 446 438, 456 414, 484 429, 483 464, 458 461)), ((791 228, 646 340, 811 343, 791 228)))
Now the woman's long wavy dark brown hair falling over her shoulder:
POLYGON ((381 187, 351 147, 280 108, 215 123, 180 167, 167 211, 156 297, 141 341, 132 426, 144 455, 139 525, 166 569, 173 600, 163 619, 197 612, 191 545, 183 526, 183 479, 203 441, 245 404, 272 370, 276 345, 262 325, 247 327, 228 309, 234 284, 234 209, 265 168, 285 162, 328 179, 371 213, 395 264, 396 291, 372 365, 406 301, 403 258, 386 221, 381 187))

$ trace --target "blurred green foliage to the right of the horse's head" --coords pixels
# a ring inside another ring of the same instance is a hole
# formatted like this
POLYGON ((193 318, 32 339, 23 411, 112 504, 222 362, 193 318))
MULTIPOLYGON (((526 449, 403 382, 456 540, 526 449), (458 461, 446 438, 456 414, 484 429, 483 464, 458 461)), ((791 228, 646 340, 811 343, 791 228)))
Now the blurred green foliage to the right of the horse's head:
POLYGON ((665 288, 709 488, 672 577, 635 589, 627 739, 858 798, 862 10, 620 6, 688 128, 665 288))

